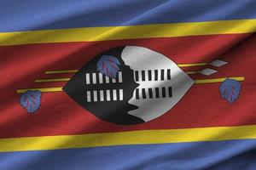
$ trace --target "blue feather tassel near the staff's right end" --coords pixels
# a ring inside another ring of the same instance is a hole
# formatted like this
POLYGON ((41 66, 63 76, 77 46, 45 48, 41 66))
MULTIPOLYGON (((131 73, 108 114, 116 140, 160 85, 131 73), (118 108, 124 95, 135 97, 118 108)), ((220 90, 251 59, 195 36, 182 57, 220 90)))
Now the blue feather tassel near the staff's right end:
POLYGON ((230 104, 232 104, 236 99, 238 99, 240 91, 241 83, 232 79, 226 79, 224 82, 221 83, 219 87, 221 97, 230 102, 230 104))

